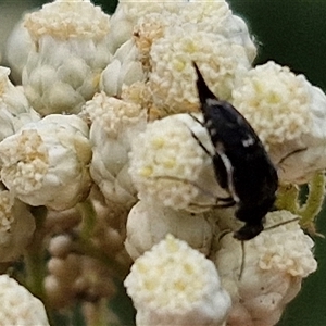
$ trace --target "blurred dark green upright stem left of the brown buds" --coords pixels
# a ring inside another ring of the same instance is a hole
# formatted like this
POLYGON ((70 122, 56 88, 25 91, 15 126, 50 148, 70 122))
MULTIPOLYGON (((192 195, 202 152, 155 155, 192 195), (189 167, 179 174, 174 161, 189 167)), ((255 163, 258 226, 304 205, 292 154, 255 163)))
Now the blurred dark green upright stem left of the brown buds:
POLYGON ((36 229, 24 255, 25 269, 27 274, 26 287, 43 302, 46 299, 43 288, 43 278, 46 276, 43 223, 47 217, 47 209, 43 206, 32 209, 32 214, 35 217, 36 229))

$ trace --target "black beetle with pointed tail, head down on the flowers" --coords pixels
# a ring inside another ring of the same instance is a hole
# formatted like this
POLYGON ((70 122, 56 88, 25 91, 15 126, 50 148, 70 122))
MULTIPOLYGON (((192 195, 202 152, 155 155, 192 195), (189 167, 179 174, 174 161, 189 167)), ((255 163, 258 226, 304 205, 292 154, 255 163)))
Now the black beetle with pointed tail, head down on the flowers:
POLYGON ((264 216, 275 202, 277 172, 249 122, 230 103, 211 92, 193 65, 203 125, 215 150, 211 154, 215 176, 230 195, 225 205, 237 204, 236 217, 246 223, 234 237, 250 240, 263 230, 264 216))

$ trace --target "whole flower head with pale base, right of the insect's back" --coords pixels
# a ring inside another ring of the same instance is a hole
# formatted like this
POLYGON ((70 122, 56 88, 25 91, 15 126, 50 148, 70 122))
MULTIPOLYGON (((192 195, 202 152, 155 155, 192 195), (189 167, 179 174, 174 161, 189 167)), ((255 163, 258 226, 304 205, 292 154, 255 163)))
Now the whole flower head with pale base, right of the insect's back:
POLYGON ((326 96, 303 75, 274 62, 249 71, 233 91, 233 104, 246 116, 281 181, 305 183, 326 167, 326 96))

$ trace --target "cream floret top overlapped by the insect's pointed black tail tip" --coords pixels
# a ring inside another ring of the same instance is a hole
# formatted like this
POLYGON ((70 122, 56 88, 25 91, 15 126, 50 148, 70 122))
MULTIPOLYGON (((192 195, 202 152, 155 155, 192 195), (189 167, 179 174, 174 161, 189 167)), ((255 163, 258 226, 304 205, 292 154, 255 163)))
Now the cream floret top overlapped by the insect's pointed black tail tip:
POLYGON ((171 27, 170 33, 152 45, 150 58, 149 87, 153 101, 170 114, 199 108, 192 61, 221 99, 230 97, 236 78, 250 67, 242 46, 192 26, 171 27))

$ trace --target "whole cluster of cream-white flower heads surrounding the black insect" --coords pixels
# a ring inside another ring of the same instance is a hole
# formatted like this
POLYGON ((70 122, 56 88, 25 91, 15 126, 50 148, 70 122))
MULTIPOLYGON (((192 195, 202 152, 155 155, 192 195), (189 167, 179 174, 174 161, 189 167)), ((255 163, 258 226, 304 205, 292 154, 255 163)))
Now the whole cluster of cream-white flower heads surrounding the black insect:
POLYGON ((233 237, 241 223, 221 208, 230 195, 216 177, 193 62, 262 140, 279 197, 303 183, 313 196, 326 167, 325 93, 275 62, 253 67, 248 27, 220 0, 121 0, 111 17, 87 0, 57 0, 25 15, 9 40, 17 49, 9 62, 22 86, 0 67, 0 262, 24 253, 36 228, 29 206, 46 206, 53 306, 112 296, 109 280, 101 291, 110 268, 93 260, 109 255, 126 268, 133 260, 125 286, 137 325, 275 325, 316 269, 314 243, 294 204, 268 213, 244 252, 233 237))

